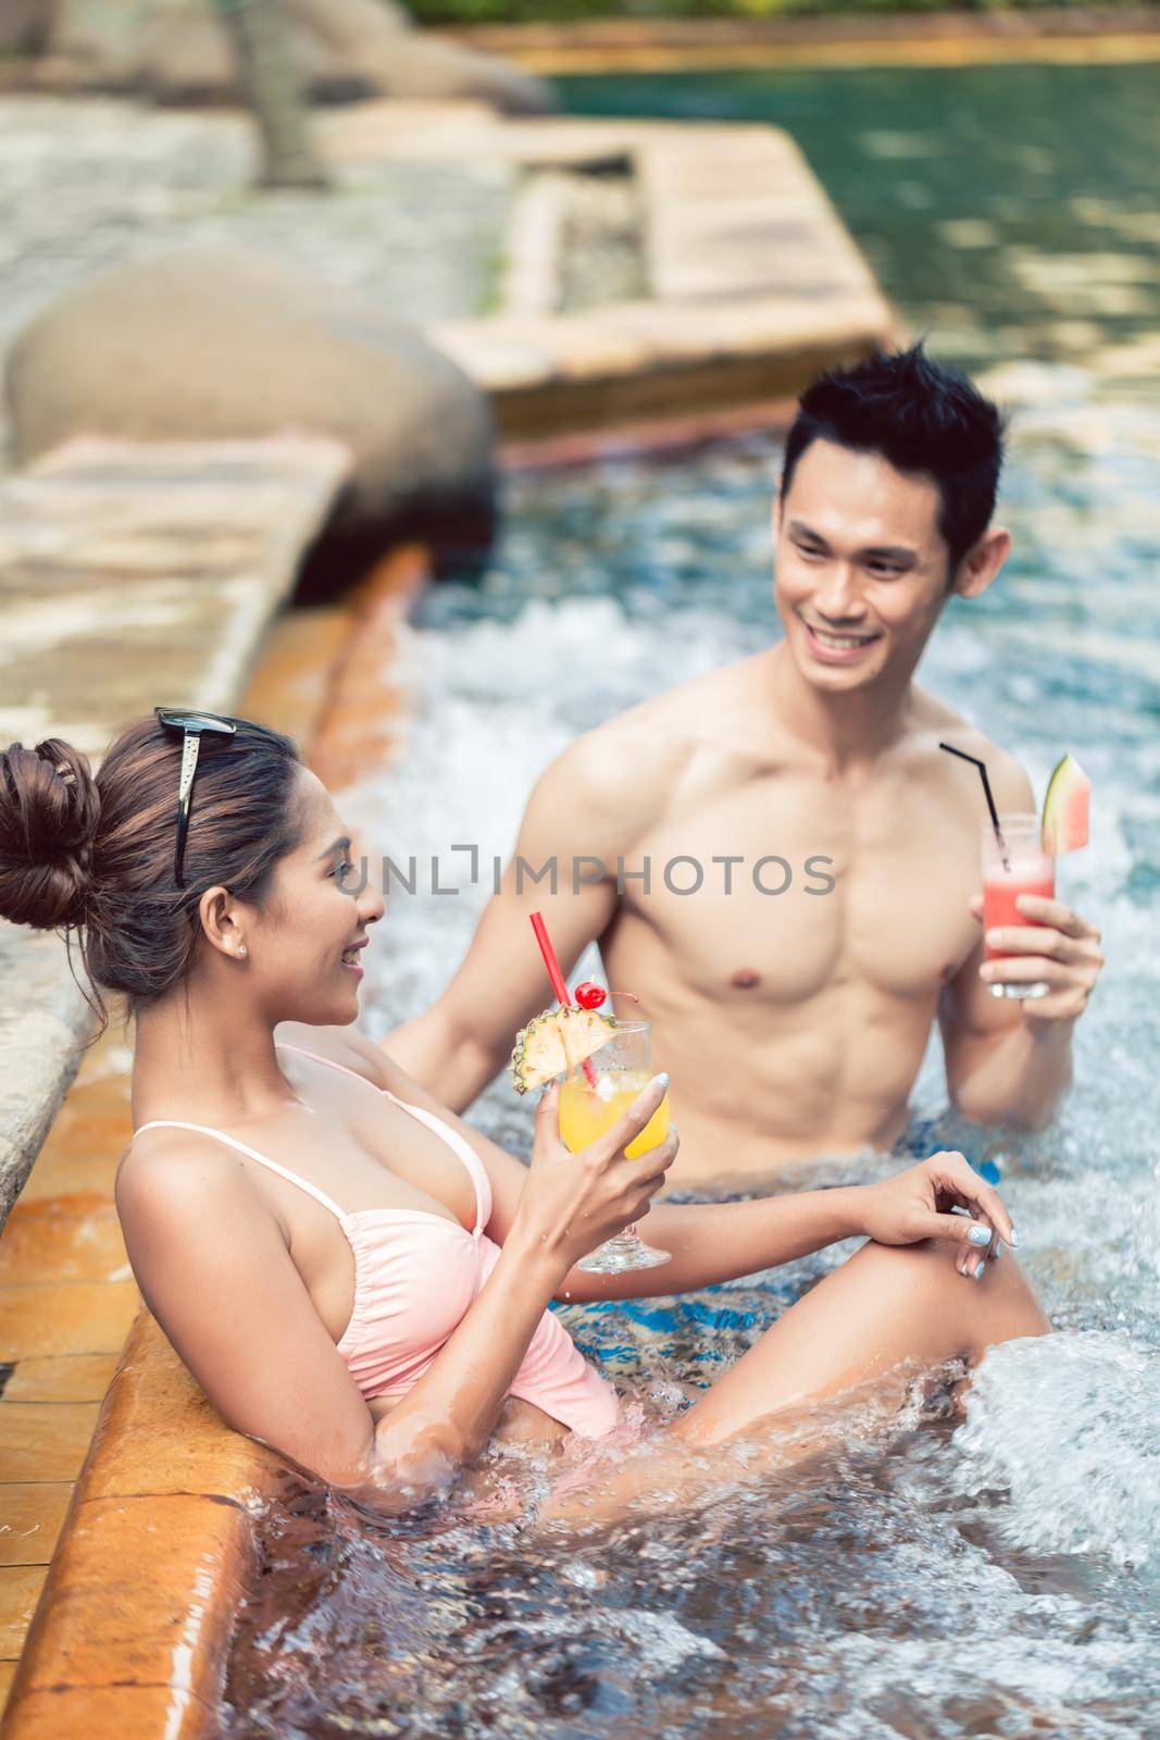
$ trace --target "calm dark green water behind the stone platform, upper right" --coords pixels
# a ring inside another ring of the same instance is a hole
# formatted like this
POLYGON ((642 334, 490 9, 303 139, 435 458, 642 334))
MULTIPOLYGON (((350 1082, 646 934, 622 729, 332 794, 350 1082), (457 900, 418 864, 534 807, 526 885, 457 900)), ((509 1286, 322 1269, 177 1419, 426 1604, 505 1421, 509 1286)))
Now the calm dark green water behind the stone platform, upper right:
MULTIPOLYGON (((1160 66, 560 80, 581 115, 788 129, 941 355, 1160 378, 1160 66)), ((1143 379, 1141 379, 1143 378, 1143 379)))

